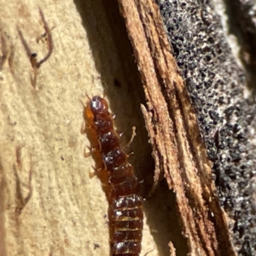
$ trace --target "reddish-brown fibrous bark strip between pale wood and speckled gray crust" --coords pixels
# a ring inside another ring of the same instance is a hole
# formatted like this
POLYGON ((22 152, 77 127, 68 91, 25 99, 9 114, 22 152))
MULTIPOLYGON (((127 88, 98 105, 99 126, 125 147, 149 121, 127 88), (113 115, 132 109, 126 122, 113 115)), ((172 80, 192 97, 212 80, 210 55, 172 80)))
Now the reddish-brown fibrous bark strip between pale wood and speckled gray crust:
POLYGON ((119 0, 148 101, 142 106, 156 163, 177 198, 191 255, 236 255, 212 182, 195 111, 171 55, 158 6, 151 0, 119 0))

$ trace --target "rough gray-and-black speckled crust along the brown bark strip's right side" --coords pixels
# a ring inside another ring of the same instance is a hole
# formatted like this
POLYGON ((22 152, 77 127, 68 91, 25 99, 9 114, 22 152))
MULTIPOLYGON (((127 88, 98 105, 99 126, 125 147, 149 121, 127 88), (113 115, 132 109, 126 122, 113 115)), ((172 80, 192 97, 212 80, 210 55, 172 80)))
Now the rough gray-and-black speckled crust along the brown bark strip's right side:
POLYGON ((212 178, 230 218, 233 244, 239 254, 253 255, 255 144, 248 138, 254 107, 244 96, 245 73, 232 55, 212 1, 158 3, 213 162, 212 178))

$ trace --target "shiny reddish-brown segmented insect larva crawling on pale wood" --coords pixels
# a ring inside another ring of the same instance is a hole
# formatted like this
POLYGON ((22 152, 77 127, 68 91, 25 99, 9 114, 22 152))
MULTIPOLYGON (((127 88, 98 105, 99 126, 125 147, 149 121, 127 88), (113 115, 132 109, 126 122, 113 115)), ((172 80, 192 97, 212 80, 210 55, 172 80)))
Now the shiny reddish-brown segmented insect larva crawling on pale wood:
POLYGON ((138 256, 143 230, 142 197, 133 166, 120 148, 108 102, 93 96, 84 107, 84 119, 96 160, 96 175, 108 197, 110 255, 138 256))

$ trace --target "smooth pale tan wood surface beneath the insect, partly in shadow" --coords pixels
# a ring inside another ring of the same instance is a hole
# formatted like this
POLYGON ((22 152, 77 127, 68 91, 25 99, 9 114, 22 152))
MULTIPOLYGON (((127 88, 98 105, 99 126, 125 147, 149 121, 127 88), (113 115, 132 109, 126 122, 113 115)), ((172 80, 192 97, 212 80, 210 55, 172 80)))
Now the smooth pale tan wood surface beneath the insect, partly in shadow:
MULTIPOLYGON (((117 128, 125 132, 124 144, 131 126, 137 126, 131 160, 140 178, 153 176, 154 161, 140 112, 142 84, 129 41, 119 39, 125 26, 119 24, 119 11, 112 5, 99 0, 0 3, 2 60, 7 55, 0 72, 1 255, 109 254, 108 203, 99 180, 89 177, 94 162, 84 159, 89 142, 80 133, 80 100, 86 101, 86 93, 107 95, 117 128), (38 60, 43 58, 48 49, 44 37, 36 40, 44 34, 39 6, 54 50, 40 67, 33 88, 34 71, 17 26, 38 60), (32 196, 24 205, 30 173, 32 196)), ((176 247, 185 247, 180 231, 160 238, 164 232, 160 227, 168 234, 177 228, 161 221, 174 209, 171 205, 159 211, 158 198, 151 200, 158 211, 145 204, 148 222, 145 219, 142 255, 151 249, 152 256, 168 255, 170 236, 175 236, 176 247)))

